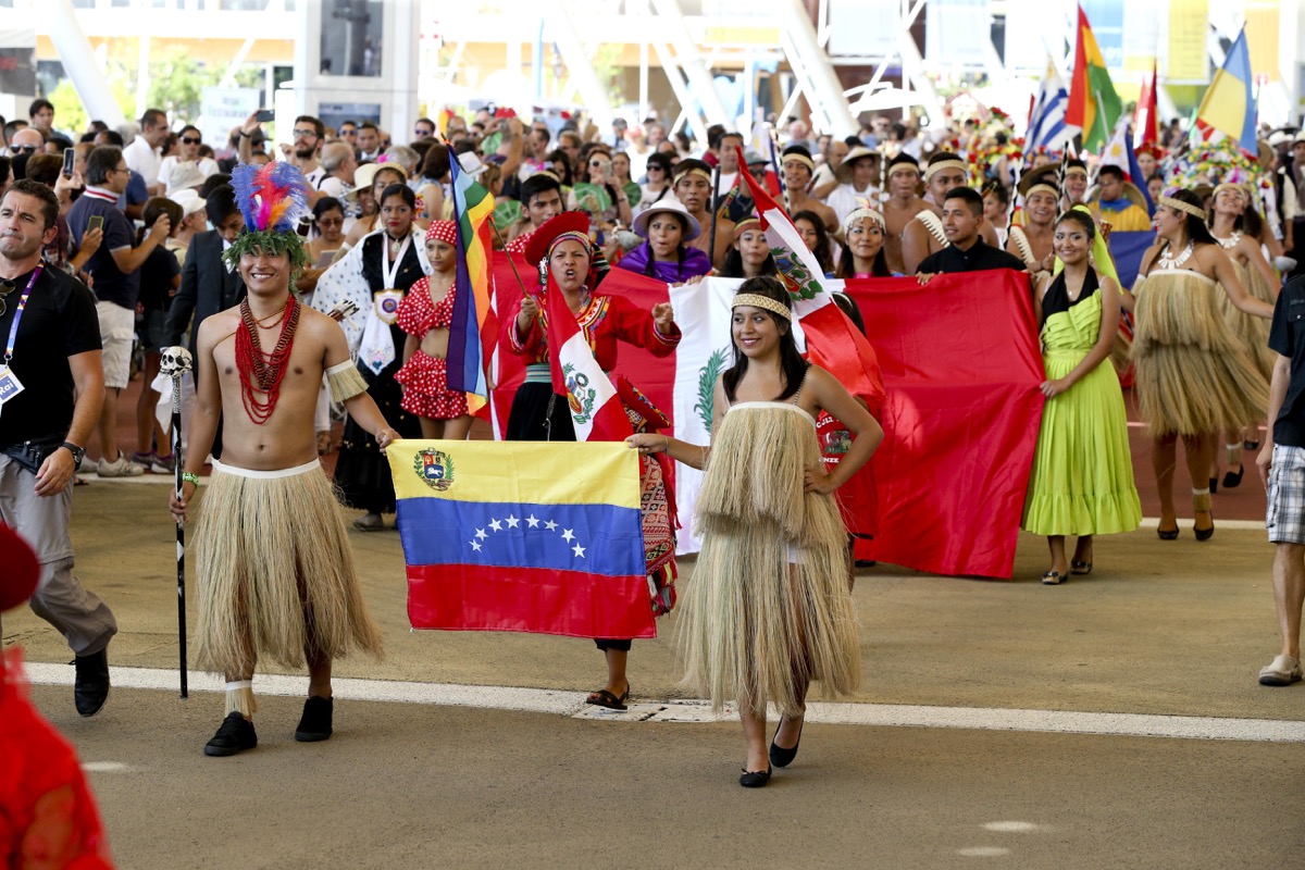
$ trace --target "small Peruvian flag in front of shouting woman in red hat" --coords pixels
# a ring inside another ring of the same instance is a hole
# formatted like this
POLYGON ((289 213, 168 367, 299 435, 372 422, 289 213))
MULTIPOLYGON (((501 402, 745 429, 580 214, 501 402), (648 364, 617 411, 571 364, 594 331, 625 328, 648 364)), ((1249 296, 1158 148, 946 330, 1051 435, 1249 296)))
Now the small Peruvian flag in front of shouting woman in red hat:
POLYGON ((611 378, 603 373, 585 333, 570 313, 566 297, 553 280, 548 282, 548 365, 553 393, 566 397, 577 441, 624 441, 630 436, 630 419, 611 378))

